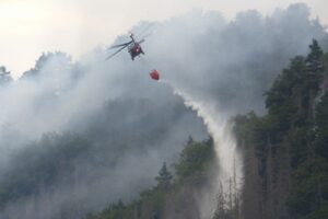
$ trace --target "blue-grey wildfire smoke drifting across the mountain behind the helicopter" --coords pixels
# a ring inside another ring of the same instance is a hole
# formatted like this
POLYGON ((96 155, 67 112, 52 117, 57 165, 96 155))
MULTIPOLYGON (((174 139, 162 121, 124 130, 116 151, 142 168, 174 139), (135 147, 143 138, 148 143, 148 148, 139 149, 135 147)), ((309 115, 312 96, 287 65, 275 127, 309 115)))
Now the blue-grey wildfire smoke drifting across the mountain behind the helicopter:
MULTIPOLYGON (((136 32, 147 25, 140 23, 136 32)), ((9 200, 3 216, 45 219, 70 206, 74 210, 67 216, 74 218, 120 197, 136 197, 152 185, 163 161, 175 160, 188 135, 206 138, 202 122, 183 100, 149 80, 152 69, 227 117, 262 113, 262 94, 291 57, 307 51, 312 38, 328 48, 326 31, 309 20, 304 4, 268 18, 255 10, 241 12, 232 22, 219 12, 194 11, 152 28, 143 44, 145 56, 136 61, 127 53, 104 61, 108 51, 103 48, 78 62, 61 53, 45 54, 19 81, 1 85, 1 182, 30 159, 20 155, 26 148, 51 158, 44 134, 87 139, 70 163, 68 170, 74 172, 66 173, 68 180, 56 178, 35 194, 9 200)))

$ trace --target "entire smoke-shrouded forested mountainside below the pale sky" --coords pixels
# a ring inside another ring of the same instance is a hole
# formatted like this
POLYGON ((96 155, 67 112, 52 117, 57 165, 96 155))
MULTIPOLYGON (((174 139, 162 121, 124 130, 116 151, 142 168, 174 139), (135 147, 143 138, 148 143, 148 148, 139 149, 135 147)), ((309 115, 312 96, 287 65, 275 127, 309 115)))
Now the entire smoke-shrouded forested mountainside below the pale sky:
POLYGON ((78 60, 44 53, 16 80, 0 67, 0 218, 320 217, 328 34, 309 8, 151 25, 134 61, 105 61, 106 45, 78 60), (232 120, 244 159, 222 160, 245 174, 223 182, 218 147, 236 146, 221 131, 232 120))

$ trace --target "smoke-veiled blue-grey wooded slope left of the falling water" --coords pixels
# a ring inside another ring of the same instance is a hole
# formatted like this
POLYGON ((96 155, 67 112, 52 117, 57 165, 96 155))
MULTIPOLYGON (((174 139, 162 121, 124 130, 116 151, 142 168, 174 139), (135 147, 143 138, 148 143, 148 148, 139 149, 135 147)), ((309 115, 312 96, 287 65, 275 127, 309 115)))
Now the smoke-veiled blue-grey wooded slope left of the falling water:
MULTIPOLYGON (((184 124, 185 119, 197 123, 194 113, 186 112, 178 99, 166 103, 169 104, 164 107, 167 112, 159 117, 156 113, 163 106, 150 100, 112 101, 97 115, 85 117, 87 127, 77 128, 80 134, 48 132, 23 149, 13 150, 5 171, 1 173, 1 218, 20 218, 22 214, 30 217, 36 206, 61 209, 59 212, 48 209, 42 217, 82 218, 87 211, 93 211, 91 209, 105 207, 99 200, 108 203, 136 197, 140 189, 152 185, 148 180, 149 172, 155 174, 160 168, 149 163, 157 159, 172 161, 172 153, 178 153, 183 148, 176 143, 180 137, 168 137, 172 136, 172 124, 184 124), (131 117, 136 111, 139 116, 131 117), (106 124, 110 124, 110 128, 104 128, 106 124), (155 143, 157 147, 153 147, 155 143), (175 148, 169 149, 167 143, 175 148), (136 165, 149 172, 133 169, 136 165), (122 175, 121 171, 128 175, 122 175), (138 185, 134 187, 131 182, 134 185, 138 182, 138 185), (89 193, 94 198, 87 197, 89 193), (22 205, 21 211, 14 212, 10 207, 12 203, 22 205)), ((186 128, 180 135, 186 139, 191 132, 192 128, 186 128)))

